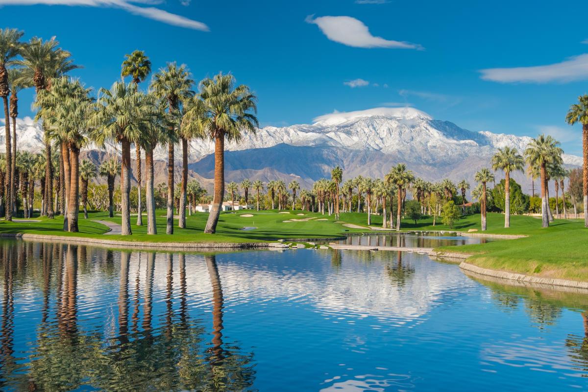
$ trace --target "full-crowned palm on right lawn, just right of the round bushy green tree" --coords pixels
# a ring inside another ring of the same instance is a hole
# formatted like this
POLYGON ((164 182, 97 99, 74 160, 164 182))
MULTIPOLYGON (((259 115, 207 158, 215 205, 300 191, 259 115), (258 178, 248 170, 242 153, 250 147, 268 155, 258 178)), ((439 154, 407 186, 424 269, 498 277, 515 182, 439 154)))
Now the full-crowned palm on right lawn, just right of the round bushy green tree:
POLYGON ((534 138, 524 151, 527 164, 538 167, 541 177, 541 214, 542 226, 549 227, 549 201, 547 200, 547 165, 562 164, 563 150, 559 141, 553 137, 540 134, 534 138))

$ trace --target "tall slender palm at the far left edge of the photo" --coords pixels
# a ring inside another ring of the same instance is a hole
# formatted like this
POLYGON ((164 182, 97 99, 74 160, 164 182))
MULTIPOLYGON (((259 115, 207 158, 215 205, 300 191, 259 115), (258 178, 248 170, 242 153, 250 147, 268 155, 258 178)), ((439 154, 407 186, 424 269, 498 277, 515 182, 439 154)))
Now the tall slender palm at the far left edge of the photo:
POLYGON ((10 113, 8 106, 8 96, 10 94, 10 85, 8 79, 8 70, 6 66, 19 55, 22 49, 20 42, 24 32, 17 29, 0 29, 0 97, 4 104, 5 118, 5 135, 6 135, 6 177, 5 177, 5 205, 6 220, 12 221, 12 205, 15 194, 14 169, 12 168, 12 147, 10 136, 10 113))

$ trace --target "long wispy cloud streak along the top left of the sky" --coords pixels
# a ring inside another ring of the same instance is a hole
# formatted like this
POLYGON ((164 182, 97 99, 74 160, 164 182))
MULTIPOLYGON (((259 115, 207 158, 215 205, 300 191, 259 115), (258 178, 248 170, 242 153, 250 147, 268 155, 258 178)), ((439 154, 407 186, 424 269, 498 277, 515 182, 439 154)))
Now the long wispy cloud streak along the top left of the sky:
POLYGON ((209 31, 205 23, 194 21, 185 16, 176 15, 163 11, 163 9, 151 6, 138 6, 136 4, 153 5, 161 4, 159 0, 0 0, 1 5, 69 5, 69 6, 89 6, 104 8, 120 8, 133 15, 143 16, 143 18, 152 19, 166 23, 168 25, 179 26, 188 29, 209 31), (134 4, 133 4, 134 3, 134 4))

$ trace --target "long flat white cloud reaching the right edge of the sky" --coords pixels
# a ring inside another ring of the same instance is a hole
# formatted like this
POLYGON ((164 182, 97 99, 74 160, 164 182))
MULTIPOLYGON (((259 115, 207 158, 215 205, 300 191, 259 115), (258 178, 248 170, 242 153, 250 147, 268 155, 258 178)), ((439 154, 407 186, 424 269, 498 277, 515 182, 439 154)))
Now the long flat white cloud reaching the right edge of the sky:
POLYGON ((480 70, 482 79, 500 83, 572 82, 588 79, 588 54, 560 63, 534 67, 490 68, 480 70))

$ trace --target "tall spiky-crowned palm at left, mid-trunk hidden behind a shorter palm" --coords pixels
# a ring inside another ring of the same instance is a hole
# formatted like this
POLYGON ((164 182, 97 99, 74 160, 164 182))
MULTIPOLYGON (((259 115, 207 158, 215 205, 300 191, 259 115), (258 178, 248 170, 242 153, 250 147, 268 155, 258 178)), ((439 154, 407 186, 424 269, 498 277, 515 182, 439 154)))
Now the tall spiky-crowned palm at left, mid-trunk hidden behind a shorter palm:
MULTIPOLYGON (((71 59, 71 53, 58 47, 55 37, 50 40, 32 38, 21 48, 21 60, 15 63, 24 68, 26 77, 32 80, 37 95, 42 90, 50 90, 52 78, 79 68, 71 59)), ((45 138, 45 214, 54 217, 53 199, 53 165, 51 163, 51 141, 45 138)))

